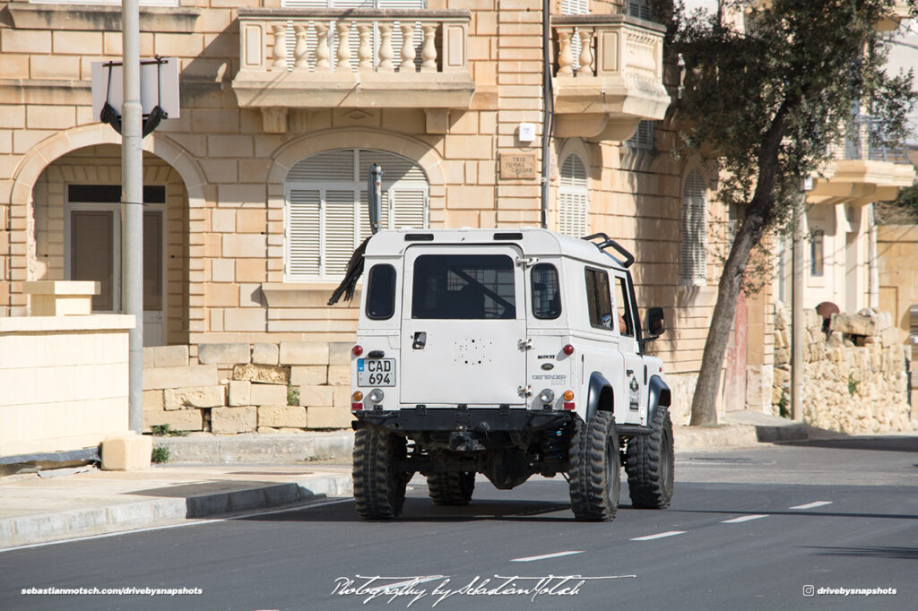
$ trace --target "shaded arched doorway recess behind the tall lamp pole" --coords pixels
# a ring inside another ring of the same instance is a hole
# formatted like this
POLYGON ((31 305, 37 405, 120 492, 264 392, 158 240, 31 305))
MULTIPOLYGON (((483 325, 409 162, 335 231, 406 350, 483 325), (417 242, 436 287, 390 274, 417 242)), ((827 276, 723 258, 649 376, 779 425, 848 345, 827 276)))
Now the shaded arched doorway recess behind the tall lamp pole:
MULTIPOLYGON (((144 345, 186 343, 188 194, 175 169, 144 152, 144 345)), ((99 144, 51 161, 32 189, 35 280, 99 283, 95 313, 121 304, 121 150, 99 144)))

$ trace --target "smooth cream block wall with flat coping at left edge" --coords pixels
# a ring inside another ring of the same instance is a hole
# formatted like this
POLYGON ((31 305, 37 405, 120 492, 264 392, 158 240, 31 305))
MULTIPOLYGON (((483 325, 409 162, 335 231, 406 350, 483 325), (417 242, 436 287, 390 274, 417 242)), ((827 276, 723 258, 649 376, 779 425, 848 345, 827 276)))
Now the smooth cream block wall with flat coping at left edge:
POLYGON ((0 318, 0 456, 81 450, 128 428, 134 317, 0 318))

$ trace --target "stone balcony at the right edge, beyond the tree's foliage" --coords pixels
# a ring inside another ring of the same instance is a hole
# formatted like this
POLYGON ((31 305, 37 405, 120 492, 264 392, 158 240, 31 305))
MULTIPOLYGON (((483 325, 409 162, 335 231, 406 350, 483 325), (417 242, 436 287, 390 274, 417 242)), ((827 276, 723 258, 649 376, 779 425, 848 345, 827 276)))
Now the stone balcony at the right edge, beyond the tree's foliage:
POLYGON ((845 140, 830 147, 832 161, 813 181, 807 202, 866 206, 895 199, 902 187, 911 185, 914 166, 904 150, 881 143, 882 128, 875 117, 856 115, 845 140))

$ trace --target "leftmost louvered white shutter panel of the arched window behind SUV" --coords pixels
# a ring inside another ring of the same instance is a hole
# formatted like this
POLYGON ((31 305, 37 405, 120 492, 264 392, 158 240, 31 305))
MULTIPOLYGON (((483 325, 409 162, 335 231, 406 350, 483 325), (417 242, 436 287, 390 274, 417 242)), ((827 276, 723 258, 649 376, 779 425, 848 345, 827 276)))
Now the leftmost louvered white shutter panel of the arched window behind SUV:
POLYGON ((312 189, 287 193, 286 262, 289 276, 318 276, 321 272, 319 209, 321 194, 312 189))

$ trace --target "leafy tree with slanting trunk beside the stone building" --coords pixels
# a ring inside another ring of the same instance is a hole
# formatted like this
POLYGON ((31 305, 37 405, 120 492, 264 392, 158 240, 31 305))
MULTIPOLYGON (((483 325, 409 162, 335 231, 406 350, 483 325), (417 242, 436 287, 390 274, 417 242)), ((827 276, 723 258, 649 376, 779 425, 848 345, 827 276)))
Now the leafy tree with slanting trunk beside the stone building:
MULTIPOLYGON (((912 14, 918 0, 909 0, 912 14)), ((677 120, 684 154, 716 156, 718 198, 742 210, 723 264, 691 407, 692 425, 716 424, 723 355, 750 254, 788 230, 802 185, 829 161, 852 121, 881 117, 873 137, 905 135, 912 74, 884 70, 877 31, 893 0, 722 0, 716 15, 672 6, 670 50, 683 81, 677 120), (742 15, 744 26, 725 15, 742 15)))

